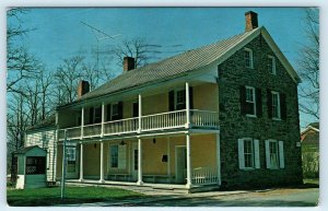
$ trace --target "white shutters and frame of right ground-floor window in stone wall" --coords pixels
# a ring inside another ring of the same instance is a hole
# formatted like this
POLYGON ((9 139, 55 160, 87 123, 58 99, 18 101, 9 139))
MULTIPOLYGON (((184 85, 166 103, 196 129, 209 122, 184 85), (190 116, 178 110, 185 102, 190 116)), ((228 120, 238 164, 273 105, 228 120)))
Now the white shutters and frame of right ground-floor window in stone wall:
POLYGON ((274 139, 266 140, 266 163, 268 169, 282 169, 284 168, 284 152, 283 152, 283 141, 278 141, 274 139), (271 167, 271 160, 270 160, 270 142, 277 143, 277 160, 278 166, 271 167))

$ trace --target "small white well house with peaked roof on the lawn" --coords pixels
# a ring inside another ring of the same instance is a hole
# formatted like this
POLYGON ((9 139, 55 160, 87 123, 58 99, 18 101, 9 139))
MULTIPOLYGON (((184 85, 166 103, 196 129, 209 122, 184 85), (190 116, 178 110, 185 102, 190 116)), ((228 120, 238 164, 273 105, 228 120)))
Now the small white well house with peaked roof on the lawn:
POLYGON ((32 145, 15 152, 17 157, 16 189, 40 188, 47 186, 47 152, 32 145))

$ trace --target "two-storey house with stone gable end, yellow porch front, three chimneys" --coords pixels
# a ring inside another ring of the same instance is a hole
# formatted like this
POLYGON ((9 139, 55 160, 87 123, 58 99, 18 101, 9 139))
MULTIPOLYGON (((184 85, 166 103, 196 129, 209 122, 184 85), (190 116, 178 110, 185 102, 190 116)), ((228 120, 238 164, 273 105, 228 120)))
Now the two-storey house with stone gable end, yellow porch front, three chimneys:
POLYGON ((58 107, 57 176, 150 187, 302 183, 295 70, 257 14, 244 33, 124 72, 58 107))

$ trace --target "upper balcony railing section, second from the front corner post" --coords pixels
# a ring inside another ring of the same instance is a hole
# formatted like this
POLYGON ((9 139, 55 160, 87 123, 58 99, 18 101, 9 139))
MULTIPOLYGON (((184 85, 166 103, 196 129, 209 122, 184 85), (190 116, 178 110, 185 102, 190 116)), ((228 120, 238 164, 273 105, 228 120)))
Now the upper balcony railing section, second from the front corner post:
POLYGON ((138 117, 104 122, 104 134, 136 132, 138 117))

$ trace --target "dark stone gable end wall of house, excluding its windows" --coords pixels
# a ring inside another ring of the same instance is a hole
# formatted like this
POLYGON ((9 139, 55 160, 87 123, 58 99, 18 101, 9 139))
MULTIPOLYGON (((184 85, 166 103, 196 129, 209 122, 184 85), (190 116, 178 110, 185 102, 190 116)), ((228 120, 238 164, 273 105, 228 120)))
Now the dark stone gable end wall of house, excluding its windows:
POLYGON ((268 71, 268 55, 274 54, 259 35, 245 47, 254 54, 254 69, 245 67, 244 48, 220 65, 219 101, 221 126, 222 183, 227 187, 269 187, 302 183, 300 119, 297 84, 276 57, 277 74, 268 71), (262 116, 246 117, 241 113, 239 86, 261 89, 262 116), (272 120, 268 117, 267 90, 284 93, 286 96, 286 119, 272 120), (259 140, 260 168, 243 171, 238 167, 238 143, 241 138, 259 140), (265 140, 284 141, 284 164, 282 169, 266 166, 265 140))

